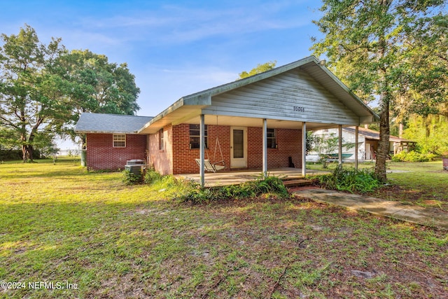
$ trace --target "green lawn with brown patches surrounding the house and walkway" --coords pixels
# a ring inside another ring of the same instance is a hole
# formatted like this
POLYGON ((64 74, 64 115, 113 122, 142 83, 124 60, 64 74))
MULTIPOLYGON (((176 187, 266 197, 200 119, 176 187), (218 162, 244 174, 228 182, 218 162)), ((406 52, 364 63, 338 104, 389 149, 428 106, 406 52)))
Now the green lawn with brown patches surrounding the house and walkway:
MULTIPOLYGON (((179 192, 170 181, 125 186, 119 173, 78 165, 0 165, 0 281, 22 287, 0 288, 0 298, 448 293, 447 232, 299 198, 185 204, 169 200, 179 192)), ((419 171, 428 167, 437 172, 435 163, 423 163, 389 178, 423 192, 419 171)), ((433 182, 430 192, 447 200, 447 176, 437 178, 445 189, 433 182)))

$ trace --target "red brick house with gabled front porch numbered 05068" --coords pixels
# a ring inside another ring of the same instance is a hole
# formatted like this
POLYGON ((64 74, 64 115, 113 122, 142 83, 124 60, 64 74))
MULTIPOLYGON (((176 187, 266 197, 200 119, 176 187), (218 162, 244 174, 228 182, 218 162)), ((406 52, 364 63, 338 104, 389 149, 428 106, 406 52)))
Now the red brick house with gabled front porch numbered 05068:
POLYGON ((223 171, 294 165, 304 174, 302 132, 379 120, 314 56, 182 97, 153 118, 122 117, 80 116, 87 167, 145 158, 161 174, 199 172, 202 181, 204 160, 223 160, 223 171))

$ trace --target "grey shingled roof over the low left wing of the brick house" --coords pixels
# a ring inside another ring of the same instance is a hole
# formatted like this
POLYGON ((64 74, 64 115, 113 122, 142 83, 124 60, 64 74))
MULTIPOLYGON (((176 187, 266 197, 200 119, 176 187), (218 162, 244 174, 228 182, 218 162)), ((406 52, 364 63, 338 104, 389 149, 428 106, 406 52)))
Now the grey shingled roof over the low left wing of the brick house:
POLYGON ((77 133, 137 134, 152 117, 105 113, 82 113, 76 123, 77 133))

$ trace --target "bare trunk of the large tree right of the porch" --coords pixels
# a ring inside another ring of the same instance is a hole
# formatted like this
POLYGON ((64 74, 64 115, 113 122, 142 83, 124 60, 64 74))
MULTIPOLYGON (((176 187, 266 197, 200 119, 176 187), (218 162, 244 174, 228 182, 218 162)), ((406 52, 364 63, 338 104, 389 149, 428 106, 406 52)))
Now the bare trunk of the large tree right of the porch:
POLYGON ((380 97, 381 113, 379 115, 379 146, 375 174, 381 181, 386 181, 386 160, 389 152, 389 97, 383 92, 380 97))

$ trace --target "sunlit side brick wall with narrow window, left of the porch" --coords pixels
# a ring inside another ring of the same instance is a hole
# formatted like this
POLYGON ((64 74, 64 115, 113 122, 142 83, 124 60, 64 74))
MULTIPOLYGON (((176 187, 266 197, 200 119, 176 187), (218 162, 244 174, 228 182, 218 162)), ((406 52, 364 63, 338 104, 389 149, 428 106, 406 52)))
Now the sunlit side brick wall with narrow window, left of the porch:
POLYGON ((160 174, 173 174, 173 127, 167 125, 163 128, 163 149, 160 149, 160 133, 148 137, 148 165, 160 174))

